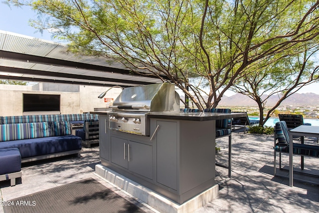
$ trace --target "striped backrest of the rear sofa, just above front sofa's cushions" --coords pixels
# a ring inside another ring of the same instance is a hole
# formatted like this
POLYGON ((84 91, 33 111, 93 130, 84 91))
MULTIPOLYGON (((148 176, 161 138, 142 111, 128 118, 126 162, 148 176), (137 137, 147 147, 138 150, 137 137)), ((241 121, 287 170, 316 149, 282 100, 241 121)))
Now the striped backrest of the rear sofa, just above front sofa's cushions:
POLYGON ((55 121, 56 115, 3 116, 3 124, 38 123, 55 121))

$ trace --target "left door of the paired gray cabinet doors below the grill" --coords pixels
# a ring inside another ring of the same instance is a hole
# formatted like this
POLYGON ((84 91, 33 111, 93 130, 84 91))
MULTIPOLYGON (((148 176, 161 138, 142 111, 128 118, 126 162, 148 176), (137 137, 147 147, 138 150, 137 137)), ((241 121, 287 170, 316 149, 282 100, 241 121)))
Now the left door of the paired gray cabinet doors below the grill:
POLYGON ((128 140, 111 137, 111 162, 128 169, 128 140))

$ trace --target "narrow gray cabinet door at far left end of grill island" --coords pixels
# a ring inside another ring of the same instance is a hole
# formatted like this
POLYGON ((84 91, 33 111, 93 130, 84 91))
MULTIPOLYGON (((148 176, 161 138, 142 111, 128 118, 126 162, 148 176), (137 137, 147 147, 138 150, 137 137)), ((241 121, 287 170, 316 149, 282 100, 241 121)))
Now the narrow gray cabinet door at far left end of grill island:
POLYGON ((99 141, 100 141, 100 158, 110 161, 110 143, 108 140, 108 117, 99 116, 99 141))

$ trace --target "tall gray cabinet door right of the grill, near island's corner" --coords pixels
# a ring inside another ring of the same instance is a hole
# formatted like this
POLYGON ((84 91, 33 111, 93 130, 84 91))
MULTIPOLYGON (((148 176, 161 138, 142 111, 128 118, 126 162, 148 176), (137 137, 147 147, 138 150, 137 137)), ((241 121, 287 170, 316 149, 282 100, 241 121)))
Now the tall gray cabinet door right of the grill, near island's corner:
POLYGON ((177 122, 157 125, 157 182, 177 190, 177 122))

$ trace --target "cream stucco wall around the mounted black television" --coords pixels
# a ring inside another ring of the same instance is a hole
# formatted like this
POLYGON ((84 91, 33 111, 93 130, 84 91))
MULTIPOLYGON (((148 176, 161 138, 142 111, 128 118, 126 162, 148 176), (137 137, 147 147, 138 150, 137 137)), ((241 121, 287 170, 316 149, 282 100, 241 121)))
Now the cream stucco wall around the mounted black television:
MULTIPOLYGON (((63 87, 63 84, 60 85, 63 87)), ((22 115, 22 94, 59 94, 61 95, 61 114, 73 114, 94 111, 94 108, 104 108, 104 99, 98 96, 109 87, 79 86, 79 92, 38 91, 42 86, 21 86, 0 84, 0 116, 22 115), (33 90, 32 90, 33 89, 33 90)), ((65 90, 67 90, 65 86, 65 90)), ((105 98, 116 98, 121 89, 113 88, 105 98)))

